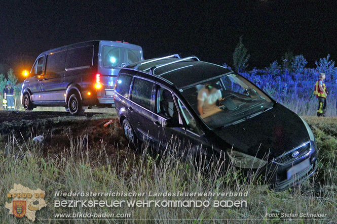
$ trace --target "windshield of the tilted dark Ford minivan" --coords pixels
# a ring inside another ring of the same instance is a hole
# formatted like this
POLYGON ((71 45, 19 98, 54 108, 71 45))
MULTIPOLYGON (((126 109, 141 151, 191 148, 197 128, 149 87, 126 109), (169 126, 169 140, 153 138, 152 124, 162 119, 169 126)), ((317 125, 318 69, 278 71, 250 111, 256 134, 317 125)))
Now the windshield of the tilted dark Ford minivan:
POLYGON ((223 75, 182 89, 181 93, 210 128, 249 118, 273 101, 238 74, 223 75))

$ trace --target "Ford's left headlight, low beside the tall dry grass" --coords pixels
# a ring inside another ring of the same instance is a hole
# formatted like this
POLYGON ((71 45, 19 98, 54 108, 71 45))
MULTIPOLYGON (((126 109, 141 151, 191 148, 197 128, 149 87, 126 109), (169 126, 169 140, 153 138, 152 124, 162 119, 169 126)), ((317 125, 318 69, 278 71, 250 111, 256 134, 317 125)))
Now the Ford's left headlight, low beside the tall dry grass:
POLYGON ((231 158, 233 164, 240 168, 257 169, 267 164, 267 161, 265 160, 238 151, 227 150, 226 152, 228 156, 231 158))

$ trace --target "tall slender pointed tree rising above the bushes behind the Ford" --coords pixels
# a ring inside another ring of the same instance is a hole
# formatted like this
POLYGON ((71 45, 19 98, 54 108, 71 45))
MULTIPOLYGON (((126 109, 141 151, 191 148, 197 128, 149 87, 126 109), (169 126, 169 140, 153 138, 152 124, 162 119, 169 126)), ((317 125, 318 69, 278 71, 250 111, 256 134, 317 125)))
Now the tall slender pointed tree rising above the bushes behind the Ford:
POLYGON ((239 38, 235 51, 233 53, 233 66, 237 72, 245 70, 248 67, 250 55, 247 55, 247 49, 242 43, 242 36, 239 38))

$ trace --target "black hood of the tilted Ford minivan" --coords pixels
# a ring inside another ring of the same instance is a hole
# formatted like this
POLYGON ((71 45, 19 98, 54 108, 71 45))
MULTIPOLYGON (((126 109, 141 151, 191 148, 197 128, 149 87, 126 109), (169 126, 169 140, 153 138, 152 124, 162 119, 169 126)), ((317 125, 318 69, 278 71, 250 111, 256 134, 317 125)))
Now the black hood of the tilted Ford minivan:
POLYGON ((310 140, 302 119, 280 104, 238 124, 214 130, 234 150, 268 159, 310 140))

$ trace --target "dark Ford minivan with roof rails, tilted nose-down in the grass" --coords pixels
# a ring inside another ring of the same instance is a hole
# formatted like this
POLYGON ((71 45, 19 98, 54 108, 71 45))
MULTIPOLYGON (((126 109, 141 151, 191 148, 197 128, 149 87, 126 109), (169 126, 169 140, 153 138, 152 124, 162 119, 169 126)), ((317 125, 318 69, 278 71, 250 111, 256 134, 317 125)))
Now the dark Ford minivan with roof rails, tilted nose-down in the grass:
POLYGON ((202 148, 191 152, 206 158, 224 154, 243 170, 269 170, 277 191, 317 169, 316 142, 305 120, 241 75, 194 56, 122 68, 115 104, 130 141, 146 139, 165 149, 177 138, 181 155, 202 148))

